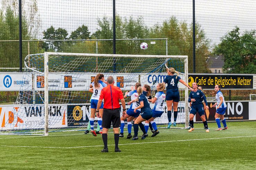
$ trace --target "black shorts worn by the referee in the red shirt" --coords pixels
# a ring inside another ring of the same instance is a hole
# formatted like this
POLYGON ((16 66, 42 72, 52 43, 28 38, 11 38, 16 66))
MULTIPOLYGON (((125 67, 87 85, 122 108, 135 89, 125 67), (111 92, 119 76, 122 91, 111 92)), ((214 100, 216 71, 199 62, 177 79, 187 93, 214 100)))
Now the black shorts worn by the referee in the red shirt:
POLYGON ((118 128, 121 126, 120 120, 120 108, 117 109, 103 109, 102 115, 102 127, 110 128, 111 122, 113 124, 113 128, 118 128))

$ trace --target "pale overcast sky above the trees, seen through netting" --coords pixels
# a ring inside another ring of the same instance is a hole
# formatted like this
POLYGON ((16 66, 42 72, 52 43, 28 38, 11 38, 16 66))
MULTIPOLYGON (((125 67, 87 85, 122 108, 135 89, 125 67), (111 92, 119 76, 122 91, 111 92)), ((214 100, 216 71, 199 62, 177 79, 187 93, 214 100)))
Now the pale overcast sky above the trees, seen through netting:
MULTIPOLYGON (((25 0, 25 2, 28 0, 25 0)), ((51 25, 65 28, 70 34, 83 24, 93 33, 97 19, 112 17, 112 0, 38 0, 41 19, 40 34, 51 25)), ((256 0, 196 0, 196 22, 202 26, 213 44, 235 26, 245 30, 256 29, 256 0)), ((116 0, 116 14, 121 17, 139 16, 151 27, 171 16, 192 23, 192 0, 116 0)))

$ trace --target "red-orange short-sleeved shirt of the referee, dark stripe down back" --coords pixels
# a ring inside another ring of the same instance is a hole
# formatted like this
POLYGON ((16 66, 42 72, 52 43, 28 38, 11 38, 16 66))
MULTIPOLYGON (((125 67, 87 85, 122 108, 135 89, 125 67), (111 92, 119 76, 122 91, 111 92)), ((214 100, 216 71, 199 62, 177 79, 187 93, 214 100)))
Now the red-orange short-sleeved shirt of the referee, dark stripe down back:
POLYGON ((119 87, 108 85, 101 90, 100 100, 104 99, 103 108, 120 108, 119 99, 123 99, 122 90, 119 87))

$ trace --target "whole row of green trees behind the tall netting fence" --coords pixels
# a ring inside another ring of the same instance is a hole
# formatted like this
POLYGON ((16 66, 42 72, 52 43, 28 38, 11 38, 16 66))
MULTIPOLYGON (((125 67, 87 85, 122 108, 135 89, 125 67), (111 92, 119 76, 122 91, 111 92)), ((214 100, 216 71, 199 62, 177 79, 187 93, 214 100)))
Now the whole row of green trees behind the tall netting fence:
MULTIPOLYGON (((35 12, 34 12, 35 13, 35 12)), ((26 17, 22 18, 23 40, 36 40, 31 26, 26 17)), ((68 35, 64 28, 50 26, 43 31, 43 39, 47 40, 76 40, 76 39, 112 39, 112 18, 103 17, 97 21, 99 28, 94 33, 88 30, 86 25, 79 26, 68 35)), ((12 8, 6 8, 0 12, 0 40, 19 39, 18 16, 12 8)), ((256 72, 256 34, 255 30, 246 31, 242 35, 239 28, 234 28, 221 38, 221 42, 210 51, 210 40, 206 33, 196 24, 196 72, 208 73, 206 59, 209 55, 224 56, 224 72, 227 73, 255 73, 256 72)), ((192 23, 178 21, 174 16, 161 24, 147 27, 143 18, 123 18, 116 16, 116 39, 141 39, 141 38, 168 38, 168 55, 188 55, 189 72, 193 72, 193 27, 192 23)), ((165 55, 165 40, 144 41, 149 44, 146 51, 140 50, 142 41, 117 41, 117 54, 151 54, 165 55), (155 44, 150 44, 155 41, 155 44)), ((95 41, 45 41, 30 42, 29 52, 42 53, 72 52, 72 53, 96 53, 95 41)), ((0 67, 19 67, 18 42, 0 42, 0 55, 3 62, 0 67)), ((98 53, 111 54, 113 52, 112 41, 99 41, 98 53)), ((23 43, 23 57, 28 53, 27 44, 23 43)))

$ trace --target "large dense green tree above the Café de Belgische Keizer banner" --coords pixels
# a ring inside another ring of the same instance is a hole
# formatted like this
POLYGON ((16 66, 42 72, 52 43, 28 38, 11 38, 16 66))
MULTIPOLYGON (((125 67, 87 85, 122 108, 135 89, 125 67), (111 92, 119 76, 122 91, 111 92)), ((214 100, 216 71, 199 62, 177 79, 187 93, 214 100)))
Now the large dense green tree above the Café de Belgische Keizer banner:
POLYGON ((234 28, 221 38, 221 43, 215 46, 213 53, 224 56, 223 71, 226 73, 255 73, 255 30, 240 35, 239 28, 234 28))

